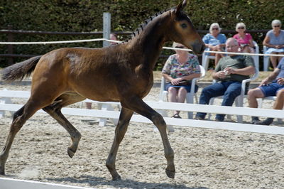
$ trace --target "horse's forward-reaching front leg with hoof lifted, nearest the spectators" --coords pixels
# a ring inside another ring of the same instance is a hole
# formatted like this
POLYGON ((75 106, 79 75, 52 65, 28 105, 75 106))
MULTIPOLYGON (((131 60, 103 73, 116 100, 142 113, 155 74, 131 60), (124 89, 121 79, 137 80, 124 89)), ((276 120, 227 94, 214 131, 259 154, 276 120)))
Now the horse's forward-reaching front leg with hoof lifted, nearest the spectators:
MULTIPOLYGON (((127 96, 126 96, 127 97, 127 96)), ((153 124, 157 126, 158 130, 160 131, 160 136, 162 137, 164 151, 165 151, 165 158, 167 159, 168 166, 165 168, 165 173, 168 175, 169 178, 175 178, 175 164, 174 164, 174 152, 173 148, 170 146, 170 141, 168 140, 167 135, 167 125, 165 124, 165 120, 163 117, 158 113, 155 112, 154 109, 148 106, 143 100, 139 97, 130 97, 121 101, 121 106, 132 109, 134 112, 141 114, 143 117, 147 117, 153 124)))

